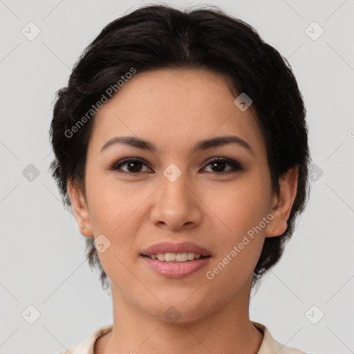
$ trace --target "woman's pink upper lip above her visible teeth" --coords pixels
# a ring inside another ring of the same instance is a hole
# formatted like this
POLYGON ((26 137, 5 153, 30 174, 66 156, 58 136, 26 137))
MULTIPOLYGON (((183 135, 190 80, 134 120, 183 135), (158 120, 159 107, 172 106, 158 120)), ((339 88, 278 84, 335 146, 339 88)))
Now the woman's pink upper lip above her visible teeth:
POLYGON ((158 253, 184 253, 184 252, 194 252, 201 254, 203 257, 210 256, 210 252, 205 248, 196 245, 192 242, 181 242, 181 243, 171 243, 171 242, 160 242, 145 248, 140 254, 143 256, 149 256, 151 254, 158 253))

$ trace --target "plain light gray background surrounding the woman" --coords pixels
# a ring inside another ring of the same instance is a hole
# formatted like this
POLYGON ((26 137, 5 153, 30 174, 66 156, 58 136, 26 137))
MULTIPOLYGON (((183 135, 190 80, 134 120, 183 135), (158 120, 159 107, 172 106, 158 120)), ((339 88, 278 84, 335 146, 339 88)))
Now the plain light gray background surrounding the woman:
MULTIPOLYGON (((205 3, 247 21, 288 58, 306 102, 317 165, 306 211, 252 297, 250 317, 287 346, 353 353, 354 1, 205 3), (306 33, 313 21, 324 29, 317 40, 306 33), (311 323, 320 311, 324 317, 311 323)), ((2 354, 57 353, 113 323, 111 293, 84 260, 84 236, 49 174, 48 128, 54 93, 66 85, 82 50, 106 24, 141 5, 0 0, 2 354), (30 21, 41 31, 32 41, 21 33, 30 21), (39 172, 32 180, 30 164, 39 172), (40 314, 33 324, 21 315, 28 306, 40 314)))

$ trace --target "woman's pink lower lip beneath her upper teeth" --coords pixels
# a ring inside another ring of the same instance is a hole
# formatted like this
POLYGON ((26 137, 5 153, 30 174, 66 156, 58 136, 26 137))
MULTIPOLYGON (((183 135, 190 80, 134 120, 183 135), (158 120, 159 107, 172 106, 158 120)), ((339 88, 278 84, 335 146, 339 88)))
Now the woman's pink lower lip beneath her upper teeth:
POLYGON ((205 267, 205 265, 207 265, 210 259, 210 257, 205 257, 194 259, 193 261, 169 263, 158 261, 158 259, 151 259, 150 257, 141 257, 156 273, 161 274, 167 278, 175 279, 187 277, 187 275, 200 270, 201 268, 205 267))

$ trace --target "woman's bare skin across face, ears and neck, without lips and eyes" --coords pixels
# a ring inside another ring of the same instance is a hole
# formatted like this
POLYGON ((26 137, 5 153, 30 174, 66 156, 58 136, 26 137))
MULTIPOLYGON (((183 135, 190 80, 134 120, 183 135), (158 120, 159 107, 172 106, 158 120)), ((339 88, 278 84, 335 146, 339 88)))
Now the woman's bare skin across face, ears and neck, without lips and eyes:
POLYGON ((255 110, 241 111, 235 98, 221 75, 165 69, 136 73, 98 111, 88 144, 85 194, 68 183, 80 232, 95 238, 104 234, 111 242, 98 256, 111 279, 114 326, 97 340, 95 354, 259 350, 263 335, 249 318, 252 274, 265 237, 286 230, 298 174, 290 169, 280 181, 280 194, 272 192, 255 110), (252 153, 236 144, 191 153, 200 140, 230 135, 248 142, 252 153), (158 151, 117 144, 101 152, 115 136, 138 136, 158 151), (123 165, 121 173, 109 169, 130 157, 147 164, 123 165), (213 168, 209 160, 217 157, 235 160, 244 170, 221 175, 233 169, 228 164, 213 168), (173 183, 163 174, 171 163, 182 172, 173 183), (274 209, 277 215, 261 232, 207 279, 205 273, 274 209), (192 241, 212 257, 206 268, 169 279, 139 255, 160 241, 192 241), (176 322, 164 317, 170 306, 180 313, 176 322))

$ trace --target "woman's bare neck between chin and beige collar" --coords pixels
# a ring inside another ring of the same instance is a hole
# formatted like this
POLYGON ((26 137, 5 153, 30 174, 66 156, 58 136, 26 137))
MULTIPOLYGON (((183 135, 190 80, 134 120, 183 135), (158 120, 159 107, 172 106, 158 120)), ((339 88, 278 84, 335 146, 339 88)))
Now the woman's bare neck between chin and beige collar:
MULTIPOLYGON (((249 284, 250 285, 250 284, 249 284)), ((250 288, 250 287, 249 287, 250 288)), ((228 304, 189 322, 168 322, 151 316, 111 288, 113 330, 106 335, 104 354, 121 353, 257 353, 263 335, 250 322, 250 289, 228 304)), ((95 351, 95 354, 102 354, 95 351)))

